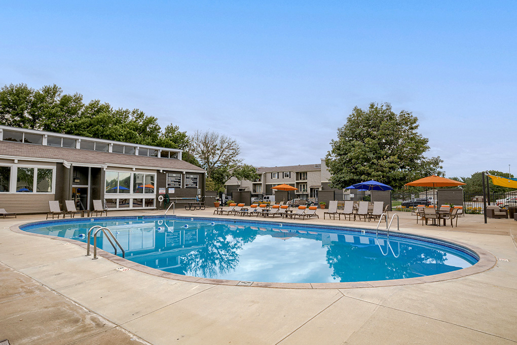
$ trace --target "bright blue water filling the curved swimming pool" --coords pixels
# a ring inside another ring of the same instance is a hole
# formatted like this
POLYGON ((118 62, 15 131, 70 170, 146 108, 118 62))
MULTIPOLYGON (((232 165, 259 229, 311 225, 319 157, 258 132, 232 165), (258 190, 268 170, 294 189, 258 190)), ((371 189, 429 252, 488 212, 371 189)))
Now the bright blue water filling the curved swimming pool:
MULTIPOLYGON (((21 229, 86 242, 94 225, 111 229, 128 260, 205 278, 278 283, 387 280, 460 270, 479 259, 458 245, 400 232, 390 232, 388 242, 385 233, 376 237, 372 230, 233 219, 83 218, 21 229)), ((102 235, 98 243, 114 252, 102 235)))

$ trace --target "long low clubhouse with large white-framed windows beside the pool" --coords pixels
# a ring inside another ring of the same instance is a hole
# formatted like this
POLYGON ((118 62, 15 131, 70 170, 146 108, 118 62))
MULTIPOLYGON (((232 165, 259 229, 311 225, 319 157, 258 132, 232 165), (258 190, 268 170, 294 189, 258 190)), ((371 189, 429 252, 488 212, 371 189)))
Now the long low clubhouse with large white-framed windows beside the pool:
MULTIPOLYGON (((163 208, 162 197, 204 196, 205 170, 181 150, 0 126, 0 208, 49 212, 49 201, 93 209, 163 208)), ((62 208, 63 209, 63 208, 62 208)))

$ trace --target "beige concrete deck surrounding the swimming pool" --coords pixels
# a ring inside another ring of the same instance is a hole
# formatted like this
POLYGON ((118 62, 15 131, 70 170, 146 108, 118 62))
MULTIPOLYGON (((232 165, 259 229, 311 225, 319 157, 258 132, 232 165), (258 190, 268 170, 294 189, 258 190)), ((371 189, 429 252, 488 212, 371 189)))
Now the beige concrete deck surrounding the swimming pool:
MULTIPOLYGON (((318 214, 323 218, 323 210, 318 214)), ((91 260, 81 246, 10 229, 44 215, 0 219, 0 340, 11 345, 517 343, 517 222, 483 224, 482 215, 466 215, 457 228, 432 227, 399 214, 402 231, 483 248, 495 266, 434 283, 383 287, 201 284, 140 272, 131 262, 91 260), (117 270, 123 267, 129 270, 117 270)), ((297 222, 376 226, 337 219, 297 222)))

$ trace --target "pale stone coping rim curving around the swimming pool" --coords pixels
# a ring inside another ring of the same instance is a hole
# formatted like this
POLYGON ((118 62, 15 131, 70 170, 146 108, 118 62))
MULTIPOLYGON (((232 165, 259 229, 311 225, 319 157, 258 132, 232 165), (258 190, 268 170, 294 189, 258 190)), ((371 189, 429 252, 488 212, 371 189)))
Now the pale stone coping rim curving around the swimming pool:
MULTIPOLYGON (((99 219, 106 219, 106 218, 112 218, 112 217, 99 217, 99 219)), ((116 217, 114 217, 116 218, 116 217)), ((63 237, 56 237, 51 235, 43 235, 38 233, 32 233, 24 231, 20 228, 20 226, 29 225, 33 223, 39 223, 39 222, 23 222, 16 225, 13 225, 10 227, 10 230, 17 233, 23 233, 31 236, 36 237, 44 237, 44 238, 50 238, 62 242, 68 242, 75 245, 78 245, 80 247, 83 247, 86 250, 87 244, 84 242, 76 241, 73 239, 67 239, 63 237)), ((299 224, 299 225, 305 225, 302 223, 289 223, 289 224, 299 224)), ((368 229, 371 230, 371 229, 368 229)), ((410 229, 409 229, 410 230, 410 229)), ((406 230, 407 231, 407 230, 406 230)), ((213 278, 201 278, 201 277, 194 277, 194 276, 186 276, 186 275, 180 275, 175 273, 169 273, 164 272, 158 269, 153 269, 147 266, 144 266, 142 264, 121 258, 119 256, 116 256, 114 254, 105 252, 104 250, 97 248, 97 255, 100 257, 103 257, 104 259, 110 260, 116 264, 123 265, 126 268, 133 269, 135 271, 139 271, 142 273, 151 274, 154 276, 159 276, 163 278, 173 279, 173 280, 180 280, 180 281, 187 281, 190 283, 199 283, 199 284, 210 284, 210 285, 227 285, 227 286, 244 286, 244 287, 260 287, 260 288, 276 288, 276 289, 353 289, 353 288, 373 288, 373 287, 389 287, 389 286, 404 286, 404 285, 415 285, 415 284, 424 284, 424 283, 435 283, 438 281, 445 281, 445 280, 451 280, 451 279, 457 279, 461 277, 470 276, 477 273, 482 273, 485 271, 488 271, 492 269, 497 264, 497 259, 494 255, 492 255, 488 250, 485 250, 481 247, 450 240, 444 237, 440 236, 422 236, 420 234, 415 234, 411 232, 398 232, 400 234, 407 234, 408 236, 416 236, 416 237, 423 237, 423 238, 429 238, 429 239, 436 239, 440 241, 445 241, 452 243, 457 246, 462 246, 468 250, 471 250, 474 252, 478 257, 479 261, 475 263, 472 266, 469 266, 467 268, 447 272, 447 273, 441 273, 441 274, 435 274, 435 275, 429 275, 429 276, 423 276, 423 277, 415 277, 415 278, 404 278, 404 279, 391 279, 391 280, 375 280, 375 281, 351 281, 351 282, 344 282, 344 283, 269 283, 269 282, 260 282, 260 281, 242 281, 242 280, 225 280, 225 279, 213 279, 213 278)))

